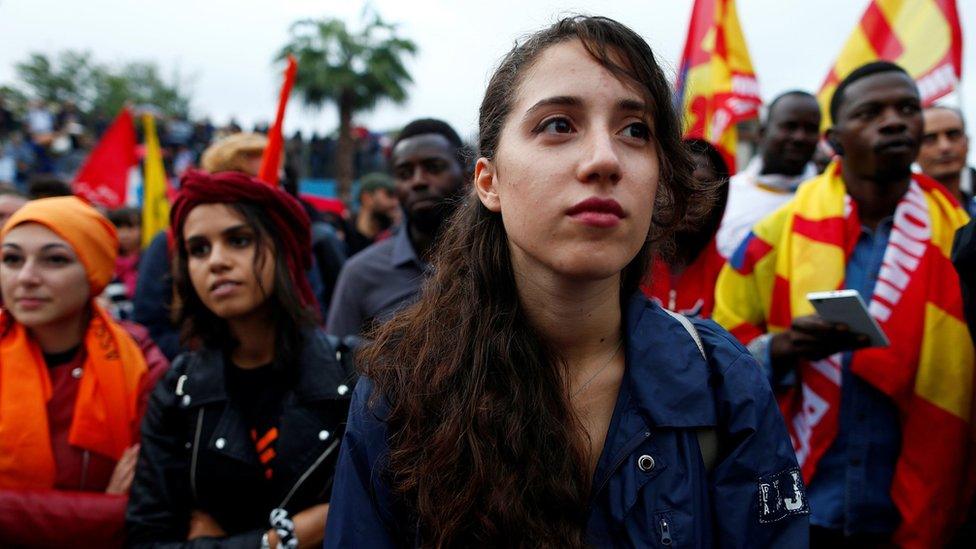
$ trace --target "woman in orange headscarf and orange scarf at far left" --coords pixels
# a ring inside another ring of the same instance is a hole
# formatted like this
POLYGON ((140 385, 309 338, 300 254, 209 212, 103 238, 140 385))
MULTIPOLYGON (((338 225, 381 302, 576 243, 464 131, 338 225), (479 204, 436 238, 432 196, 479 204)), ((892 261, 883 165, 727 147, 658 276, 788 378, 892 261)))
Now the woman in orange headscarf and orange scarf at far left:
POLYGON ((168 364, 95 298, 112 224, 74 197, 0 231, 0 546, 121 546, 149 391, 168 364))

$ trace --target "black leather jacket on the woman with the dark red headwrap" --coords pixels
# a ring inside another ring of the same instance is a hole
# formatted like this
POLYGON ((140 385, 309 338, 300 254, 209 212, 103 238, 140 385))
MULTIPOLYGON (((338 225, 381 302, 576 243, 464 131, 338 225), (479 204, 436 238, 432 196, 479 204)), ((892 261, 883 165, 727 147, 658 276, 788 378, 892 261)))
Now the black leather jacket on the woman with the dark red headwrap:
POLYGON ((346 351, 321 332, 307 335, 299 381, 282 403, 271 480, 264 478, 242 404, 228 399, 222 353, 205 349, 178 357, 143 420, 127 545, 254 549, 272 509, 294 516, 327 502, 355 384, 346 351), (228 537, 187 542, 194 510, 213 517, 228 537))

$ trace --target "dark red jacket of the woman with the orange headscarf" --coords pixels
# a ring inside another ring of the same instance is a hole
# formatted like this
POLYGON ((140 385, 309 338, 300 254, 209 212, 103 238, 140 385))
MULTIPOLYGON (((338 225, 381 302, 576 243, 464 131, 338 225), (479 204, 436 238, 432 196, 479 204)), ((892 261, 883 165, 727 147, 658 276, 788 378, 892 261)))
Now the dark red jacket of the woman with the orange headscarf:
MULTIPOLYGON (((139 344, 149 367, 140 388, 141 418, 169 362, 145 328, 121 324, 139 344)), ((74 360, 48 370, 53 394, 47 414, 57 480, 51 490, 0 490, 0 547, 122 546, 128 497, 105 493, 115 461, 68 443, 80 381, 72 372, 84 358, 78 353, 74 360)), ((138 439, 138 423, 133 429, 138 439)))

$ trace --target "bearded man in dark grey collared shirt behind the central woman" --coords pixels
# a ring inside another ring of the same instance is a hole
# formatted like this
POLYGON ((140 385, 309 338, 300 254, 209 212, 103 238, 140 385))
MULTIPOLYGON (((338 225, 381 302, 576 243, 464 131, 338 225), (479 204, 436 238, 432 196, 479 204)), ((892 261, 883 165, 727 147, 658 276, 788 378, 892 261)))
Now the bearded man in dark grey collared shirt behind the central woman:
POLYGON ((407 124, 391 165, 403 223, 343 266, 325 325, 331 335, 362 335, 417 297, 427 253, 465 189, 464 143, 440 120, 407 124))

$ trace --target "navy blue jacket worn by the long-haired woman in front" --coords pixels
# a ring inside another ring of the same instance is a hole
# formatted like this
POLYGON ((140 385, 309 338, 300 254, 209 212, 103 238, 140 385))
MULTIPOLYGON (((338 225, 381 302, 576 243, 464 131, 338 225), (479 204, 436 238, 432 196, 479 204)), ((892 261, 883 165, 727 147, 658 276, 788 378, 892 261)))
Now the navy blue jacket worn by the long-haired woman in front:
MULTIPOLYGON (((807 547, 803 481, 749 352, 717 324, 695 320, 703 358, 692 331, 643 296, 625 314, 626 371, 593 479, 589 543, 807 547)), ((385 481, 384 410, 368 406, 372 387, 360 379, 352 399, 325 547, 417 541, 416 519, 385 481)))

